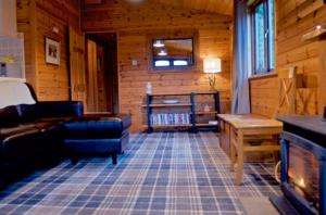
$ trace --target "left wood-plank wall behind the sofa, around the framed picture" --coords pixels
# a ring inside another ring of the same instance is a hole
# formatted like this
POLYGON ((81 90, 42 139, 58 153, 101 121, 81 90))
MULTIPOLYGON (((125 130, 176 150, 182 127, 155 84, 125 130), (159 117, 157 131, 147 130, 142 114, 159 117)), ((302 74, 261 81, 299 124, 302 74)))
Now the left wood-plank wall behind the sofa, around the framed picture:
POLYGON ((25 37, 26 79, 38 99, 68 100, 67 27, 80 30, 78 0, 17 0, 17 30, 25 37), (53 31, 53 27, 59 33, 53 31), (45 38, 60 41, 60 65, 46 63, 45 38))

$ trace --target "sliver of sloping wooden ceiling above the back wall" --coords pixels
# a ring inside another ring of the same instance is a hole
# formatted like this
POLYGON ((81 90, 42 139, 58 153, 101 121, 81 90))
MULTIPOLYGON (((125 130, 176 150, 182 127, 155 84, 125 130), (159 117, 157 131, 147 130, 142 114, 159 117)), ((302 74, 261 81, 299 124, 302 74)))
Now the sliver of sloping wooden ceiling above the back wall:
POLYGON ((234 0, 152 0, 176 8, 233 15, 234 0))

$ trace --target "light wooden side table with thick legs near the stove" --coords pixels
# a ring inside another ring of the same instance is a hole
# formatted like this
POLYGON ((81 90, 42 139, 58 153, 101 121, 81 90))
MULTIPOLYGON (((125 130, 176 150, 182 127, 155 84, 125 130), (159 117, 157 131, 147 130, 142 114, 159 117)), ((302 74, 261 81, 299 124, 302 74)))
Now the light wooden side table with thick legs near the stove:
POLYGON ((243 155, 247 152, 278 152, 278 136, 283 123, 256 115, 217 114, 221 121, 230 125, 230 170, 235 169, 236 185, 241 185, 243 176, 243 155), (248 144, 259 141, 259 144, 248 144))

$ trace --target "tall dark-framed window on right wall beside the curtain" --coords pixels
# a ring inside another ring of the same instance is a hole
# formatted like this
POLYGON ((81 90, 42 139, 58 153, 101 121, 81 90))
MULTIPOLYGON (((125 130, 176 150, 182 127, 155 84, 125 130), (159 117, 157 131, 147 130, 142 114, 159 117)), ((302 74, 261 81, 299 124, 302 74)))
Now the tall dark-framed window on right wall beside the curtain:
POLYGON ((261 0, 252 8, 254 74, 274 69, 274 0, 261 0))

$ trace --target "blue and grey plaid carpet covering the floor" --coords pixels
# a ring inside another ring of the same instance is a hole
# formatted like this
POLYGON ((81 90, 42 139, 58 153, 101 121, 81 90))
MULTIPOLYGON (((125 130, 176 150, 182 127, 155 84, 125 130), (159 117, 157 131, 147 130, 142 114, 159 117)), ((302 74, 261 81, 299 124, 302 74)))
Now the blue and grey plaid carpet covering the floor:
POLYGON ((235 186, 214 132, 135 134, 110 157, 68 160, 0 192, 0 214, 243 214, 239 198, 279 192, 273 164, 246 164, 235 186))

